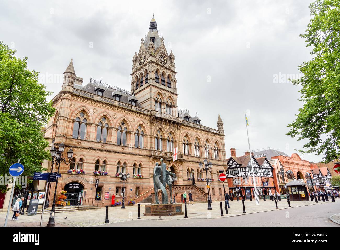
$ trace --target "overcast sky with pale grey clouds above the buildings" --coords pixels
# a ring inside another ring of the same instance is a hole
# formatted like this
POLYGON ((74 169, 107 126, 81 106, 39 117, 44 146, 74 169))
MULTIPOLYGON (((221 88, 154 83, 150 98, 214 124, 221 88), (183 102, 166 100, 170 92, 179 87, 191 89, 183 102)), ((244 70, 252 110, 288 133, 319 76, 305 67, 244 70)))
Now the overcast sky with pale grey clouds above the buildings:
MULTIPOLYGON (((132 57, 154 13, 175 55, 179 108, 202 124, 224 122, 225 146, 237 155, 273 147, 291 155, 302 141, 286 136, 302 106, 298 65, 310 59, 303 38, 311 1, 2 1, 0 40, 29 58, 53 91, 73 58, 75 73, 130 89, 132 57), (185 4, 184 4, 185 3, 185 4), (93 46, 91 46, 93 44, 93 46)), ((51 98, 52 98, 51 97, 51 98)), ((320 161, 322 156, 302 156, 320 161)))

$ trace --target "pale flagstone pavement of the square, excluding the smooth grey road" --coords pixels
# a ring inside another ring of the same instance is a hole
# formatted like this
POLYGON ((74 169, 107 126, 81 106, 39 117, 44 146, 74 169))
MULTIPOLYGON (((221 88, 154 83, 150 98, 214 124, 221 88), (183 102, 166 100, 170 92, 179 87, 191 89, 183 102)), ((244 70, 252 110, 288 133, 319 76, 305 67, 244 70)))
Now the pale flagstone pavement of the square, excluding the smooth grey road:
MULTIPOLYGON (((336 199, 336 202, 340 202, 340 199, 336 199)), ((313 206, 315 210, 317 210, 323 204, 331 203, 331 202, 319 202, 318 204, 314 201, 291 201, 291 207, 302 207, 302 206, 313 206)), ((229 201, 230 209, 228 209, 228 215, 225 214, 224 201, 223 205, 223 214, 226 216, 237 216, 244 215, 250 213, 258 213, 264 211, 271 210, 280 210, 280 209, 289 209, 288 202, 286 200, 278 201, 278 208, 275 208, 275 201, 271 200, 260 200, 260 204, 256 205, 255 200, 246 200, 244 201, 245 211, 243 213, 242 201, 229 201)), ((194 205, 187 206, 187 213, 189 219, 207 219, 207 218, 221 218, 220 212, 220 202, 214 201, 211 203, 212 210, 207 210, 207 202, 194 203, 194 205)), ((182 209, 184 211, 184 204, 182 204, 182 209)), ((140 217, 141 220, 157 220, 158 216, 143 216, 145 210, 145 206, 140 206, 140 217)), ((10 213, 11 215, 12 213, 10 213)), ((130 221, 136 220, 138 215, 138 206, 125 206, 125 209, 121 209, 121 207, 109 207, 108 208, 108 220, 109 223, 116 223, 122 221, 130 221)), ((0 212, 0 226, 4 225, 6 212, 0 212)), ((169 220, 179 220, 184 219, 183 215, 176 216, 162 216, 162 219, 169 220)), ((12 221, 9 218, 7 222, 7 226, 16 227, 16 226, 39 226, 40 225, 40 215, 21 215, 19 216, 19 220, 12 221)), ((49 213, 44 213, 43 225, 45 226, 49 219, 49 213)), ((83 210, 83 211, 72 211, 72 212, 61 212, 55 213, 55 222, 56 226, 69 227, 69 226, 78 226, 78 227, 87 227, 87 226, 96 226, 102 225, 105 221, 105 207, 102 209, 95 210, 83 210)))

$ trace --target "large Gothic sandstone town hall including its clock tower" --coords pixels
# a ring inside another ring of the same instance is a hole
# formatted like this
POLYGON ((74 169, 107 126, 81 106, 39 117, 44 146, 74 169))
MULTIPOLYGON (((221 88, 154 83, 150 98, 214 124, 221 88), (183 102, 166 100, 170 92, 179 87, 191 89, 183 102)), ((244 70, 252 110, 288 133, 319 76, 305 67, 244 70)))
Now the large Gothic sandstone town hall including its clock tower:
MULTIPOLYGON (((218 116, 217 129, 209 128, 200 123, 197 115, 191 117, 187 110, 178 109, 175 74, 174 55, 172 51, 167 53, 154 18, 138 54, 133 56, 130 91, 92 78, 83 85, 71 59, 62 90, 52 100, 56 112, 45 132, 51 145, 63 142, 65 151, 74 151, 71 163, 61 164, 57 189, 67 189, 70 204, 95 199, 96 204, 98 201, 99 206, 105 206, 111 204, 112 195, 121 200, 123 183, 116 176, 118 172, 131 175, 125 182, 126 199, 143 200, 154 192, 152 173, 160 158, 178 177, 177 202, 190 190, 194 199, 206 199, 206 182, 201 180, 206 174, 198 167, 204 158, 213 164, 208 174, 214 179, 210 185, 212 200, 223 199, 223 184, 217 181, 218 171, 227 165, 223 122, 218 116), (172 162, 175 147, 179 150, 178 160, 172 162), (73 173, 72 169, 82 169, 85 174, 73 173), (95 175, 94 171, 103 175, 95 175), (190 180, 191 171, 195 186, 190 180)), ((43 167, 50 171, 51 163, 46 161, 43 167)))

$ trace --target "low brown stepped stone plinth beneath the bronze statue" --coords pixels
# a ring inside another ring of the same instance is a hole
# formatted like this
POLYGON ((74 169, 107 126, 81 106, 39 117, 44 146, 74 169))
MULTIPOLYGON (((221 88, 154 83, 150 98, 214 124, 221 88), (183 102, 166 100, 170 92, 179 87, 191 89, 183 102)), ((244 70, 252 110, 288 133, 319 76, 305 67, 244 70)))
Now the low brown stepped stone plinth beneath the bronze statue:
POLYGON ((144 216, 183 215, 184 212, 182 212, 182 204, 183 203, 145 205, 144 216))

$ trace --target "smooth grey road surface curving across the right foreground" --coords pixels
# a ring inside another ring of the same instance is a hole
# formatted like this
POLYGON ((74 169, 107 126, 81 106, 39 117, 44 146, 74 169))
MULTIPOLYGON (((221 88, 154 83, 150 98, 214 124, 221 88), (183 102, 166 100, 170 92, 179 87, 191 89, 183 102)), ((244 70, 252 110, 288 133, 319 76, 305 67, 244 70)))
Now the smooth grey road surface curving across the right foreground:
POLYGON ((157 220, 133 220, 115 224, 102 225, 102 227, 340 227, 330 221, 328 217, 340 211, 340 202, 312 206, 295 207, 289 209, 273 210, 262 213, 244 214, 233 217, 220 217, 211 219, 184 219, 172 220, 158 218, 157 220), (288 214, 287 214, 288 213, 288 214))

